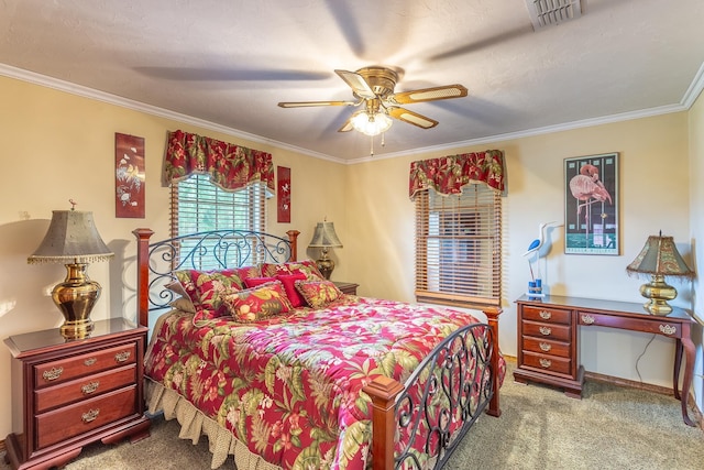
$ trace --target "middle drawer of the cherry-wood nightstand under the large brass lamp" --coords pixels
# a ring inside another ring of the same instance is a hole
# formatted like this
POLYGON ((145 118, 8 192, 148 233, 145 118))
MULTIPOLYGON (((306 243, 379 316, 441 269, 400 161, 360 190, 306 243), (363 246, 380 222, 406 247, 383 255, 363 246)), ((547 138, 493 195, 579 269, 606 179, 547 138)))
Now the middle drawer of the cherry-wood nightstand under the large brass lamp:
POLYGON ((61 405, 97 396, 132 384, 135 380, 136 364, 131 364, 65 382, 56 386, 40 389, 34 392, 35 412, 43 413, 61 405))

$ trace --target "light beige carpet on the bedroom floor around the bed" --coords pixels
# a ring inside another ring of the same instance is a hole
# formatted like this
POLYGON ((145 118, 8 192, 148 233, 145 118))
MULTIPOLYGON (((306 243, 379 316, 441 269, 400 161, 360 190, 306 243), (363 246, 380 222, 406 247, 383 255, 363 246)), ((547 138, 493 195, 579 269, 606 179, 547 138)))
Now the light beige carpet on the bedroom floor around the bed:
MULTIPOLYGON (((704 433, 684 425, 674 397, 587 381, 583 400, 574 400, 515 383, 513 367, 502 387, 502 416, 482 416, 447 469, 704 468, 704 433)), ((207 440, 180 440, 176 420, 155 418, 148 439, 88 446, 66 470, 206 470, 207 440)), ((230 458, 220 469, 233 468, 230 458)))

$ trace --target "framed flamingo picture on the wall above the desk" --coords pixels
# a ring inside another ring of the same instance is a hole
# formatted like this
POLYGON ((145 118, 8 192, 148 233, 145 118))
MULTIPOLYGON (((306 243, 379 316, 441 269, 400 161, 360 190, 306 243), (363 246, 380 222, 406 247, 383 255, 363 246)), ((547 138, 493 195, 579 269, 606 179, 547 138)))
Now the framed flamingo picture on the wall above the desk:
POLYGON ((564 252, 619 254, 618 153, 564 160, 564 252))

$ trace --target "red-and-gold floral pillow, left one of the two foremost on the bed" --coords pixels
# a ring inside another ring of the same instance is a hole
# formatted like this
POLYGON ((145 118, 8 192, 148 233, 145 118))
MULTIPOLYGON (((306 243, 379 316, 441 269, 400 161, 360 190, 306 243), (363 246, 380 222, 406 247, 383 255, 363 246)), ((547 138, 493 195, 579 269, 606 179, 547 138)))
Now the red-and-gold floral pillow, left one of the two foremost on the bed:
POLYGON ((262 320, 286 314, 293 308, 279 281, 228 294, 223 297, 223 305, 232 318, 240 323, 262 320))

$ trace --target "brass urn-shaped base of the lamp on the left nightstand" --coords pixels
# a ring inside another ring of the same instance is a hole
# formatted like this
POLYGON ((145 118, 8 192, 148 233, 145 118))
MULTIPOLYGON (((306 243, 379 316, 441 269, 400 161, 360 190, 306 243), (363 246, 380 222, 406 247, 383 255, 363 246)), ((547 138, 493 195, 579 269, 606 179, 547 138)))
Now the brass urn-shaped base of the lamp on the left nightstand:
POLYGON ((90 281, 86 274, 86 263, 66 264, 66 278, 52 291, 54 304, 64 315, 62 336, 66 339, 86 338, 94 325, 90 311, 100 297, 100 284, 90 281))

